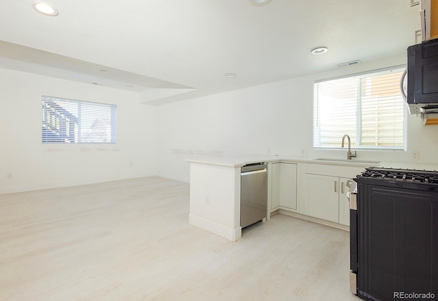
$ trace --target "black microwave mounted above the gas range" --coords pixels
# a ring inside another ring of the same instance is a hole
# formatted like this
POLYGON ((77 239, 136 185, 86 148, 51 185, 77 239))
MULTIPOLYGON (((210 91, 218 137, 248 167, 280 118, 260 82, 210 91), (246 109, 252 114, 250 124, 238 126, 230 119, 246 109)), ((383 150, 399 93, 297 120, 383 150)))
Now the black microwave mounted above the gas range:
POLYGON ((407 103, 411 114, 438 108, 438 39, 408 47, 407 103))

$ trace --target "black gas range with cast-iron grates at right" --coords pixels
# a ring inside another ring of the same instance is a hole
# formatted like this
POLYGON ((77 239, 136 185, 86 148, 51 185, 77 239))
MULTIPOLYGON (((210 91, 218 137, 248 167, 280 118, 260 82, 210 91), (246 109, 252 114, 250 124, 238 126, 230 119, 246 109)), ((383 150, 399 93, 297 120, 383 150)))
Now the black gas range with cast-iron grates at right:
POLYGON ((373 301, 438 300, 438 172, 367 168, 350 183, 350 287, 373 301))

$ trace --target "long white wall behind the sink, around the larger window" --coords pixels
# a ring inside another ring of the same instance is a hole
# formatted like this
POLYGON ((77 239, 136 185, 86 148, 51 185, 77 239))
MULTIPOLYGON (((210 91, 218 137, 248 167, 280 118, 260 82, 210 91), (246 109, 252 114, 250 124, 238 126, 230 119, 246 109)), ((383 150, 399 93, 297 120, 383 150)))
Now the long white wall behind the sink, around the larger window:
MULTIPOLYGON (((157 174, 189 181, 195 155, 279 154, 344 158, 346 150, 313 150, 313 82, 405 64, 405 57, 360 64, 157 107, 157 174)), ((407 151, 358 150, 357 159, 438 162, 438 127, 408 116, 407 151)), ((341 141, 339 141, 339 146, 341 141)))

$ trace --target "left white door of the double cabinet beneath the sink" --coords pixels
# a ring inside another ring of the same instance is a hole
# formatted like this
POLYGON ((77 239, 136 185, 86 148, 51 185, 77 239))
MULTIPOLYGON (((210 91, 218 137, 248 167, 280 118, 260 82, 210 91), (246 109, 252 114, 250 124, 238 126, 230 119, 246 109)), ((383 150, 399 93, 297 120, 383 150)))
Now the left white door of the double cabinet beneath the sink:
POLYGON ((339 178, 320 174, 306 174, 307 211, 314 218, 339 222, 339 178))

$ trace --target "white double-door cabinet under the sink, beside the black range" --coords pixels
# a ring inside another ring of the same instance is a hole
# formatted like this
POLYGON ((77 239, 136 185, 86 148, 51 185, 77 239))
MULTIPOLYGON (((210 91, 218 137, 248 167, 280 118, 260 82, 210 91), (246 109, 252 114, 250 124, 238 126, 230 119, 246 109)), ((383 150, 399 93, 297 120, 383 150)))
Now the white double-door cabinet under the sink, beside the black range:
POLYGON ((348 178, 322 174, 305 174, 307 215, 348 226, 350 205, 347 198, 348 178))

